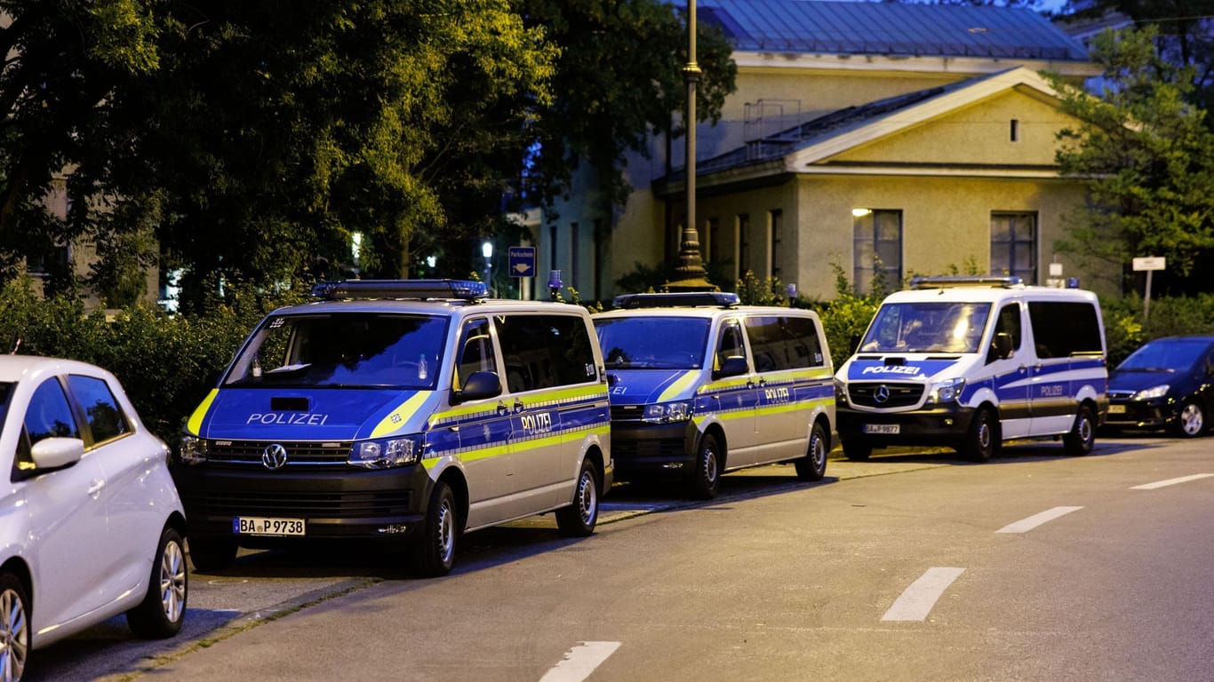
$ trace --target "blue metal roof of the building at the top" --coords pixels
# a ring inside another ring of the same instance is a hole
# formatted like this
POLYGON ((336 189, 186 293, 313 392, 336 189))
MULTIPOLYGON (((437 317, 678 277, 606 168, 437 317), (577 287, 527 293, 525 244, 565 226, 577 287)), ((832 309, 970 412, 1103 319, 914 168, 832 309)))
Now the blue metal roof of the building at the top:
POLYGON ((1032 10, 822 0, 698 0, 734 51, 1087 62, 1032 10))

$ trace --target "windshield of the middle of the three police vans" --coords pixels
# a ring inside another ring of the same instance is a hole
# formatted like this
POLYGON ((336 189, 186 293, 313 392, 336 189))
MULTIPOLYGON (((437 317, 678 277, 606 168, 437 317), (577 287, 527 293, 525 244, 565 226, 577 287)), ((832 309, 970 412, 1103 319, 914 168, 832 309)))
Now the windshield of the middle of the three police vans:
POLYGON ((622 317, 595 320, 607 369, 700 369, 709 320, 622 317))

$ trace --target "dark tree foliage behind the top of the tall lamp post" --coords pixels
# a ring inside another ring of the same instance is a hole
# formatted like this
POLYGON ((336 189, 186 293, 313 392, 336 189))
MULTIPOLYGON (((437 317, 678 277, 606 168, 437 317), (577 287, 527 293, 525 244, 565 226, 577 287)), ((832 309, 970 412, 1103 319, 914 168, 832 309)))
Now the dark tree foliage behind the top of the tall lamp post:
MULTIPOLYGON (((686 15, 660 0, 517 0, 527 24, 543 27, 563 49, 555 97, 532 129, 537 153, 527 174, 529 199, 550 203, 568 192, 572 172, 588 164, 601 183, 605 215, 631 189, 626 153, 648 154, 648 133, 683 133, 687 86, 686 15)), ((696 89, 699 120, 716 121, 734 90, 732 50, 716 27, 698 22, 696 89)))

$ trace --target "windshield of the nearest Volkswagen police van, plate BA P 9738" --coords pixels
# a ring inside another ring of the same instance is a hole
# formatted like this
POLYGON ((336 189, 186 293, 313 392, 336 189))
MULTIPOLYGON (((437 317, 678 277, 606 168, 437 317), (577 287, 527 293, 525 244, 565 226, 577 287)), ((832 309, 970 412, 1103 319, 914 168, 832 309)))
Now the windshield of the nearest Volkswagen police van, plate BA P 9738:
POLYGON ((272 317, 237 357, 225 385, 433 388, 446 339, 446 317, 272 317))

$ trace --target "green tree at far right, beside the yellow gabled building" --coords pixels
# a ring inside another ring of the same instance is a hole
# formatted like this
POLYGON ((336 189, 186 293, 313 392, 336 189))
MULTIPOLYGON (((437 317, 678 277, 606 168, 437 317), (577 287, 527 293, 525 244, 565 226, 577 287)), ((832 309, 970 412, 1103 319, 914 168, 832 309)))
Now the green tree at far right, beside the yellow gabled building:
POLYGON ((1214 266, 1214 132, 1191 102, 1192 67, 1162 58, 1156 38, 1147 27, 1093 41, 1099 98, 1053 78, 1062 110, 1079 120, 1059 132, 1057 161, 1090 192, 1057 249, 1123 268, 1134 256, 1164 256, 1179 290, 1203 290, 1214 266))

